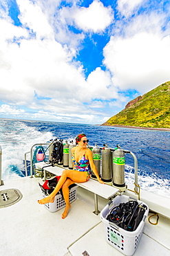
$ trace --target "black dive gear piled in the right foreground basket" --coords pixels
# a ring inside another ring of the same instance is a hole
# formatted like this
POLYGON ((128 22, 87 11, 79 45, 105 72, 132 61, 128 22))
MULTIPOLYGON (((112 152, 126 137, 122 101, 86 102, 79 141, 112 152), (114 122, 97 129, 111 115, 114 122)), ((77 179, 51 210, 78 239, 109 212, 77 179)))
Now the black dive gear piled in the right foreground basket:
POLYGON ((124 230, 134 231, 138 227, 140 221, 142 221, 146 209, 146 205, 138 205, 138 202, 135 200, 128 201, 127 203, 120 203, 109 212, 107 220, 115 223, 124 230))

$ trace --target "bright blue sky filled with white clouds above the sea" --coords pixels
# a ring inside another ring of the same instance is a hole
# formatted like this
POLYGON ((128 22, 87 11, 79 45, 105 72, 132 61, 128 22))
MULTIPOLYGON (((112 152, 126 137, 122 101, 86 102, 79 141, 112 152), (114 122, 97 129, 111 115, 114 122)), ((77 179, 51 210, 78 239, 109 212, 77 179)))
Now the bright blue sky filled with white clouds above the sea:
POLYGON ((170 80, 170 3, 0 0, 0 118, 102 124, 170 80))

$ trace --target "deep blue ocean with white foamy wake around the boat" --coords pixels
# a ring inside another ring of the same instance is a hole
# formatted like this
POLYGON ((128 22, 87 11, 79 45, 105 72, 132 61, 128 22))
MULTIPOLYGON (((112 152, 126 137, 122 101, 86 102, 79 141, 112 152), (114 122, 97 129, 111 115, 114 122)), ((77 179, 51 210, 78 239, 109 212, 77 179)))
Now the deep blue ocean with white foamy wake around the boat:
MULTIPOLYGON (((2 179, 24 176, 24 154, 36 143, 72 140, 85 133, 89 145, 120 145, 138 159, 138 183, 143 190, 170 197, 170 132, 98 125, 0 119, 2 179)), ((29 161, 28 155, 28 161, 29 161)), ((134 184, 134 158, 125 154, 125 183, 134 184)))

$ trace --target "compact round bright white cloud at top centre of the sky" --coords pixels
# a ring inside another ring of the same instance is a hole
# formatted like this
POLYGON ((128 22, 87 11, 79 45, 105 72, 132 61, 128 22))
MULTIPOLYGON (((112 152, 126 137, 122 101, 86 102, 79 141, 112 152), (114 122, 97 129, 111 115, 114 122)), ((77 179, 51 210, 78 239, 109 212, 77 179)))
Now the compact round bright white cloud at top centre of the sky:
POLYGON ((94 0, 88 8, 77 8, 73 17, 78 28, 98 33, 111 24, 114 15, 110 7, 106 8, 102 2, 94 0))

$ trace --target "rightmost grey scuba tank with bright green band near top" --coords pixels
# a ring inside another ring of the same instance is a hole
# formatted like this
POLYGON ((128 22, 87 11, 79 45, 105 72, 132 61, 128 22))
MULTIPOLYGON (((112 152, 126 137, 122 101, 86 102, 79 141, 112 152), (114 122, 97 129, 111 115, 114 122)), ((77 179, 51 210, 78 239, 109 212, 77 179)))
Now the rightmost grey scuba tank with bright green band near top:
POLYGON ((125 153, 120 146, 112 154, 113 185, 120 190, 125 190, 125 153))

